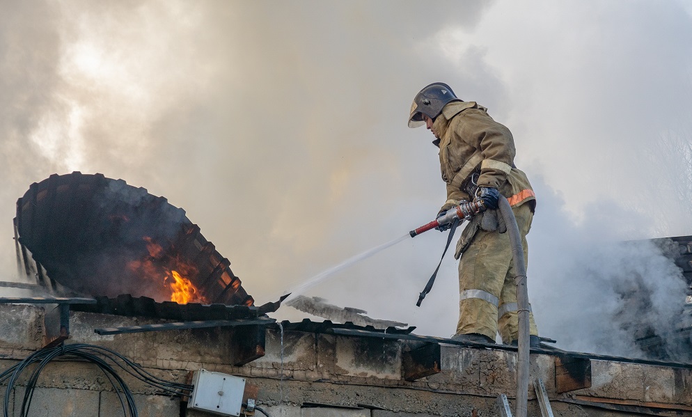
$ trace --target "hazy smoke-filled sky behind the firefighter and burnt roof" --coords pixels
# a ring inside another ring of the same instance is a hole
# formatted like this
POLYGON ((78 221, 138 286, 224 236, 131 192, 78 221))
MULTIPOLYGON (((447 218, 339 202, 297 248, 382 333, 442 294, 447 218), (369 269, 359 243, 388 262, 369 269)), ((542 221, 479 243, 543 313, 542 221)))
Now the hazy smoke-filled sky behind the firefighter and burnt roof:
MULTIPOLYGON (((22 279, 17 198, 81 171, 182 207, 255 302, 275 301, 434 218, 446 200, 438 150, 407 118, 420 88, 443 81, 512 130, 535 188, 528 287, 542 336, 632 353, 623 285, 650 285, 651 322, 673 325, 679 270, 658 246, 618 242, 692 235, 692 1, 0 7, 7 281, 22 279)), ((453 257, 415 305, 445 241, 405 239, 306 295, 450 336, 453 257)))

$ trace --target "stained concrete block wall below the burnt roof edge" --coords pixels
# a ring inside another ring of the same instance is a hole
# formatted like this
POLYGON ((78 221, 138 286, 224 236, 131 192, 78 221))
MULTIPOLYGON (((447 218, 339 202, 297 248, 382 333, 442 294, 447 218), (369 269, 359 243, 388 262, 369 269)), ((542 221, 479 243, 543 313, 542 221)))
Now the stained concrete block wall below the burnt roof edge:
MULTIPOLYGON (((0 370, 42 347, 42 317, 43 310, 37 306, 0 305, 0 370)), ((200 368, 246 377, 249 384, 259 387, 258 405, 272 417, 498 416, 498 394, 508 395, 511 401, 516 390, 516 355, 495 349, 443 344, 440 372, 406 381, 402 377, 402 357, 411 345, 398 340, 286 331, 282 357, 281 333, 267 331, 265 356, 234 366, 230 328, 117 336, 98 336, 93 331, 154 321, 71 313, 68 343, 109 347, 171 381, 184 382, 189 370, 200 368)), ((692 416, 689 369, 606 361, 592 361, 590 365, 589 388, 556 393, 555 358, 531 356, 531 375, 544 381, 555 416, 631 415, 568 402, 594 399, 661 404, 682 413, 675 415, 692 416)), ((132 377, 125 379, 140 416, 210 416, 187 411, 179 398, 171 398, 132 377)), ((21 403, 25 380, 20 379, 10 393, 11 404, 21 403)), ((5 391, 0 390, 0 395, 5 391)), ((540 416, 533 391, 529 398, 529 415, 540 416)), ((78 361, 48 365, 41 373, 31 406, 32 416, 105 417, 121 412, 118 397, 104 374, 95 365, 78 361)), ((10 409, 10 413, 17 416, 19 410, 10 409)))

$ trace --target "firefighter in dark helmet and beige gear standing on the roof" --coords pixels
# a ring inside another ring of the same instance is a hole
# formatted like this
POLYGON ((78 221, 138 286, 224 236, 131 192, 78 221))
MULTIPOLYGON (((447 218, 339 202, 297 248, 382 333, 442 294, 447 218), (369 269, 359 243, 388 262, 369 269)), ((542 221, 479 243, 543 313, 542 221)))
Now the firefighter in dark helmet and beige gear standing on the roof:
MULTIPOLYGON (((460 200, 482 200, 488 210, 464 228, 457 242, 459 259, 459 322, 453 340, 517 344, 517 286, 512 267, 510 239, 498 209, 505 196, 517 219, 524 259, 528 261, 526 234, 531 228, 535 194, 524 172, 514 166, 514 139, 487 109, 464 102, 443 83, 421 90, 411 104, 409 127, 425 125, 439 148, 447 201, 438 216, 460 200)), ((449 226, 447 226, 448 228, 449 226)), ((443 231, 443 229, 441 229, 443 231)), ((530 313, 530 346, 540 345, 530 313)))

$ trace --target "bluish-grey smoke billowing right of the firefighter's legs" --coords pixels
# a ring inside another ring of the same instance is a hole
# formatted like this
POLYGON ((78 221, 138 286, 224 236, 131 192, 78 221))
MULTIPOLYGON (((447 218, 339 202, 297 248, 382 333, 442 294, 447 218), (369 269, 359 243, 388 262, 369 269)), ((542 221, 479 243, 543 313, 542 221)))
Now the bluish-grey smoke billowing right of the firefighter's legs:
POLYGON ((562 349, 629 357, 646 356, 637 339, 659 336, 670 341, 654 353, 689 361, 689 340, 673 340, 688 289, 674 262, 679 244, 622 241, 622 233, 638 232, 645 217, 612 200, 591 205, 588 220, 575 221, 543 182, 534 186, 542 198, 529 235, 528 286, 540 334, 562 349))

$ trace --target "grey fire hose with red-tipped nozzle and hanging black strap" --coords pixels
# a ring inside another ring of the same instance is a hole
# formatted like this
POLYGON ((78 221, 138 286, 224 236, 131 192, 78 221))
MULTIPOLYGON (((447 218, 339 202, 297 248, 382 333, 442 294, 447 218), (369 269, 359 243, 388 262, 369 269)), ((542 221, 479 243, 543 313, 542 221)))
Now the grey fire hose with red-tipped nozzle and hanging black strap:
MULTIPOLYGON (((519 346, 517 349, 517 408, 515 414, 517 417, 526 417, 528 409, 528 382, 529 382, 529 322, 528 322, 528 287, 526 286, 526 263, 524 262, 524 249, 521 246, 521 235, 519 235, 519 226, 517 226, 517 219, 514 219, 514 213, 512 212, 512 207, 508 202, 507 198, 500 196, 498 201, 500 213, 507 226, 507 233, 510 237, 510 245, 512 247, 512 264, 514 270, 517 271, 517 276, 514 276, 514 283, 517 285, 517 313, 519 316, 519 346)), ((457 207, 448 210, 443 216, 431 221, 430 223, 420 226, 417 229, 411 230, 409 235, 411 237, 416 237, 420 233, 427 232, 434 228, 439 228, 440 226, 446 226, 452 224, 449 237, 447 239, 447 246, 442 254, 446 253, 447 248, 452 240, 456 227, 464 221, 465 219, 471 219, 473 216, 480 214, 485 211, 485 205, 482 202, 466 201, 462 200, 459 202, 457 207)), ((440 260, 440 263, 442 260, 440 260)), ((420 306, 420 302, 425 298, 425 294, 430 292, 432 288, 432 283, 434 283, 435 276, 437 276, 437 271, 439 270, 439 265, 435 269, 434 274, 428 281, 425 290, 420 293, 418 298, 417 306, 420 306)))

